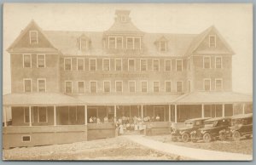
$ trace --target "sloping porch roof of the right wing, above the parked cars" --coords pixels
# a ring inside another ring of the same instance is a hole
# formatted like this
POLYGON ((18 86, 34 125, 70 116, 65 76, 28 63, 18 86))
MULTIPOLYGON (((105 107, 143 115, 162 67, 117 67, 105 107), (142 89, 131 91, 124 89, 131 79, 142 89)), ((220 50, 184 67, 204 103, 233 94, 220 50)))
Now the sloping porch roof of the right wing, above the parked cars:
POLYGON ((184 94, 173 100, 174 103, 181 104, 214 104, 214 103, 247 103, 253 102, 253 95, 239 94, 235 92, 193 92, 184 94))

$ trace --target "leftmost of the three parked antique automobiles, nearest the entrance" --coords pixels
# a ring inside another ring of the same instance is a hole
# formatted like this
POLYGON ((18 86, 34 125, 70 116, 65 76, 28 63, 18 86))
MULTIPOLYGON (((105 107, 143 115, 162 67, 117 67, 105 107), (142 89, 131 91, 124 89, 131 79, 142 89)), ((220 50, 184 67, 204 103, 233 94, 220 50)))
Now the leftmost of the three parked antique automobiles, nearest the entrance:
POLYGON ((174 128, 172 130, 172 140, 182 140, 183 142, 188 142, 190 139, 190 133, 199 128, 204 127, 204 121, 208 120, 209 117, 206 118, 193 118, 186 120, 184 122, 184 126, 181 128, 174 128))

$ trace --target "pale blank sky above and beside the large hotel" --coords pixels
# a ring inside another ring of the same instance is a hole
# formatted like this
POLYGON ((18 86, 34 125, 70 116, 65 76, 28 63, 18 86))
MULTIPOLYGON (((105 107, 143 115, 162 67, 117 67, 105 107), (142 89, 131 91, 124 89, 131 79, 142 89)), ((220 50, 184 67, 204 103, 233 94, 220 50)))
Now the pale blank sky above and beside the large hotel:
POLYGON ((253 94, 253 5, 251 4, 85 4, 5 3, 3 6, 3 94, 11 88, 7 48, 35 20, 43 30, 106 31, 116 9, 131 10, 132 22, 145 32, 199 34, 214 25, 236 53, 233 91, 253 94))

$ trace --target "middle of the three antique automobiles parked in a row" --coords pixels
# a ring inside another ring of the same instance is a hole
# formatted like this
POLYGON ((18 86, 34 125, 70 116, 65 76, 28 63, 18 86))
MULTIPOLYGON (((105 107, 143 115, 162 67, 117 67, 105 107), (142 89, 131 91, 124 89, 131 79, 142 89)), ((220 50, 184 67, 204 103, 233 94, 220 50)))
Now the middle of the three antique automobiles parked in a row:
POLYGON ((219 132, 223 130, 229 130, 231 125, 230 117, 216 117, 208 119, 204 122, 204 128, 191 132, 191 141, 197 142, 203 139, 205 142, 210 142, 212 139, 219 138, 219 132))

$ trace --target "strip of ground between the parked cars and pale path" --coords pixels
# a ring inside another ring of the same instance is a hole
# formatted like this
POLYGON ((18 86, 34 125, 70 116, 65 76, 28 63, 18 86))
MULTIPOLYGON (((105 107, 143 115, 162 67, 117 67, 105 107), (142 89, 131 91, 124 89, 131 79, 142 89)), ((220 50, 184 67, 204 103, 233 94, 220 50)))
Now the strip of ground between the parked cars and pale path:
POLYGON ((173 142, 171 135, 160 135, 160 136, 146 136, 148 139, 155 139, 164 143, 170 143, 173 145, 182 145, 191 148, 212 150, 212 151, 227 151, 233 153, 241 153, 247 155, 253 155, 253 139, 241 139, 240 141, 219 141, 215 140, 210 143, 198 141, 197 143, 173 142))

